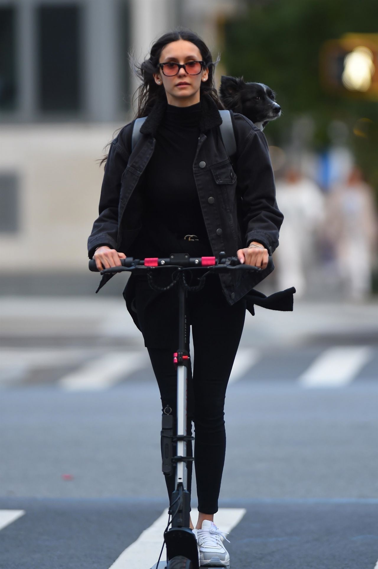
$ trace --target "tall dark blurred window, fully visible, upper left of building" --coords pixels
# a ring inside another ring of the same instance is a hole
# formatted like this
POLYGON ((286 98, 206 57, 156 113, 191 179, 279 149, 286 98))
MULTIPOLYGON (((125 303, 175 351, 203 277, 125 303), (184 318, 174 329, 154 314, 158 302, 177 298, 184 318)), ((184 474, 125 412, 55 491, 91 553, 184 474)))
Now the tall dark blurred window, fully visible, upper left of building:
POLYGON ((81 10, 79 6, 37 9, 39 108, 43 112, 82 109, 81 10))

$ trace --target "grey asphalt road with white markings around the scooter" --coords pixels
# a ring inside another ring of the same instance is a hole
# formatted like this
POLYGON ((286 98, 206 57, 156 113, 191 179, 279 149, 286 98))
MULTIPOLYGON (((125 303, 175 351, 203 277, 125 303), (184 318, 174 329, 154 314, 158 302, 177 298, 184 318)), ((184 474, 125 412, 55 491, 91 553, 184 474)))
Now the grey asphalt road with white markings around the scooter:
MULTIPOLYGON (((18 333, 2 332, 1 569, 149 569, 162 546, 161 520, 168 520, 162 516, 160 400, 140 339, 124 330, 106 335, 104 328, 99 335, 83 316, 76 335, 56 315, 33 335, 32 317, 23 318, 18 333), (109 367, 116 356, 123 365, 122 348, 129 373, 109 367), (94 361, 103 366, 96 381, 94 361), (83 381, 80 389, 74 380, 83 381)), ((226 395, 227 450, 215 522, 222 530, 237 520, 225 542, 230 565, 374 569, 372 320, 354 325, 351 309, 348 327, 343 321, 344 329, 322 332, 320 319, 310 327, 304 318, 295 337, 284 326, 279 337, 268 320, 253 349, 247 325, 226 395)), ((196 522, 195 477, 193 488, 196 522)))

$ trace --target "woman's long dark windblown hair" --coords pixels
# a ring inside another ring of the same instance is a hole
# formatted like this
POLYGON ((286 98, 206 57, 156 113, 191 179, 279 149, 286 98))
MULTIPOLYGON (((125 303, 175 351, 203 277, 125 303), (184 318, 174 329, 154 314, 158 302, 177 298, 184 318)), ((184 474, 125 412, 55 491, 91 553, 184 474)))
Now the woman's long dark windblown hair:
MULTIPOLYGON (((204 67, 208 67, 208 79, 207 81, 201 81, 200 85, 200 96, 207 95, 212 98, 218 109, 224 109, 218 93, 215 87, 214 80, 214 69, 217 63, 220 61, 220 55, 218 54, 216 61, 212 60, 211 53, 205 42, 192 30, 186 28, 178 27, 175 30, 163 34, 159 39, 154 42, 148 59, 142 61, 138 64, 132 51, 129 51, 129 64, 132 71, 137 77, 141 79, 141 84, 133 93, 132 103, 135 99, 137 93, 138 98, 138 109, 135 118, 146 117, 152 110, 154 104, 157 101, 166 100, 166 93, 163 85, 157 85, 154 80, 153 73, 158 72, 158 63, 161 52, 167 44, 171 42, 177 42, 179 39, 186 40, 187 42, 193 43, 198 47, 201 57, 205 62, 204 67)), ((123 127, 121 127, 123 128, 123 127)), ((121 128, 119 130, 121 130, 121 128)), ((106 146, 109 146, 109 142, 106 146)), ((100 162, 100 166, 103 162, 106 162, 107 156, 100 162)))

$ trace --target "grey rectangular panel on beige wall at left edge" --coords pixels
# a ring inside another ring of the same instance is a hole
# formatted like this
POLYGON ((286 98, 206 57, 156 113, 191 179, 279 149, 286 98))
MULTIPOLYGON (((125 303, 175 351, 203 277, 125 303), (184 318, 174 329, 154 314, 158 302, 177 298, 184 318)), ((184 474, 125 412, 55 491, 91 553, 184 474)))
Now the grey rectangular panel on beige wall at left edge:
POLYGON ((19 184, 13 172, 0 173, 0 232, 19 230, 19 184))

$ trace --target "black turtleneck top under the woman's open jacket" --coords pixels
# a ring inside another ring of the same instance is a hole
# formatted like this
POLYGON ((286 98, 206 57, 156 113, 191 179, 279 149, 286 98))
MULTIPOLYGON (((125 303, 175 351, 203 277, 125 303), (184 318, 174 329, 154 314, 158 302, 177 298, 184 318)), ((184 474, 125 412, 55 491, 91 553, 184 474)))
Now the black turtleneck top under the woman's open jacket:
POLYGON ((157 129, 156 146, 141 180, 145 222, 140 242, 145 256, 169 255, 172 248, 179 252, 179 246, 194 255, 212 254, 193 174, 200 116, 200 102, 167 105, 157 129), (186 234, 200 241, 182 241, 186 234))

